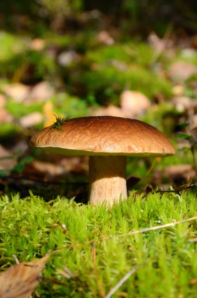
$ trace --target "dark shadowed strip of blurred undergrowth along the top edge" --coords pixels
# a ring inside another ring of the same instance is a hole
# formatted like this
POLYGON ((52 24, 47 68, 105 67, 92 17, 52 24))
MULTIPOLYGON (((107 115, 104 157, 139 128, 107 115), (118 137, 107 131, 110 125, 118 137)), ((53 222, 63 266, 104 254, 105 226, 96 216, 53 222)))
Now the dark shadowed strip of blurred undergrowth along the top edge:
MULTIPOLYGON (((67 28, 80 29, 76 20, 81 20, 83 11, 99 10, 108 15, 108 21, 114 21, 128 32, 150 30, 163 35, 168 23, 174 27, 184 27, 193 32, 197 30, 197 6, 195 0, 7 0, 0 1, 3 26, 11 30, 31 29, 33 34, 42 36, 48 26, 62 31, 63 23, 67 28), (20 20, 19 15, 23 16, 20 20)), ((99 16, 100 17, 100 16, 99 16)), ((97 19, 91 16, 91 21, 97 19)), ((81 23, 82 20, 81 20, 81 23)), ((142 31, 141 31, 142 32, 142 31)))

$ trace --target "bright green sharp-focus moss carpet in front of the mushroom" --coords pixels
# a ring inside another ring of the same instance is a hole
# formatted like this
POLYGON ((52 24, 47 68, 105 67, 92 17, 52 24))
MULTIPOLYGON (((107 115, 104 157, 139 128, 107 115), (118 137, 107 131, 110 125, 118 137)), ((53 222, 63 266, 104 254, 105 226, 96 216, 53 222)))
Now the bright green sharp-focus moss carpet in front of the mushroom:
POLYGON ((136 264, 142 266, 114 298, 196 297, 197 247, 191 239, 197 237, 197 221, 116 237, 196 216, 196 194, 150 193, 136 195, 135 202, 133 197, 106 208, 60 197, 46 203, 31 192, 27 198, 2 196, 1 270, 15 263, 13 254, 28 262, 51 251, 43 276, 63 285, 41 282, 36 290, 42 298, 105 297, 136 264), (58 272, 62 266, 75 277, 58 272))

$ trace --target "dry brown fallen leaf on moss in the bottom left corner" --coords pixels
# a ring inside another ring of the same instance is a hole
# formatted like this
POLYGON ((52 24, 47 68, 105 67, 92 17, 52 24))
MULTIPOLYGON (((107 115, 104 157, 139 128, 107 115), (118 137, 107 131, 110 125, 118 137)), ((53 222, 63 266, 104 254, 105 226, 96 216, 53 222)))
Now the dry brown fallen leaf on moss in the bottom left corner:
POLYGON ((0 297, 2 298, 29 298, 39 284, 41 275, 49 258, 46 255, 42 259, 32 262, 15 264, 0 273, 0 297))

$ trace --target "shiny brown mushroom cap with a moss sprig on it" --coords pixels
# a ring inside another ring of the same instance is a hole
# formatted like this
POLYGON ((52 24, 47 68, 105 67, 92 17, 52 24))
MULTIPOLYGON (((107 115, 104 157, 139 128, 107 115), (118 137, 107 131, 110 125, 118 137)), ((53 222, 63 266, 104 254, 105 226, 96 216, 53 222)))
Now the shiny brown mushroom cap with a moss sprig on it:
POLYGON ((156 128, 120 117, 82 117, 67 120, 62 130, 47 127, 30 146, 64 155, 169 156, 173 144, 156 128))

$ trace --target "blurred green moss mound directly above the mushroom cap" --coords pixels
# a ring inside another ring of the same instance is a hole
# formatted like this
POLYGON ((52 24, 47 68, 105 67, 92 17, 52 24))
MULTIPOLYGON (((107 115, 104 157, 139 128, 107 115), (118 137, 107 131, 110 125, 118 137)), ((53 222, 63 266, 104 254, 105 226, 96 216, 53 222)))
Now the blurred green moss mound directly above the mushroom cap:
MULTIPOLYGON (((158 92, 162 92, 165 97, 171 96, 170 82, 138 66, 124 72, 112 66, 83 73, 77 71, 69 78, 69 85, 77 86, 78 90, 84 92, 83 96, 94 96, 100 104, 118 104, 120 94, 126 86, 142 92, 150 99, 158 92)), ((75 91, 77 92, 76 89, 75 91)))

